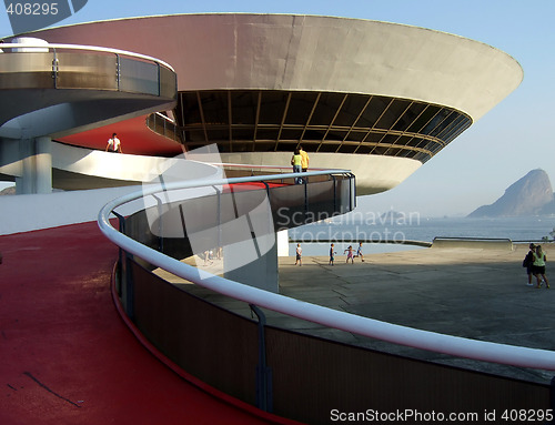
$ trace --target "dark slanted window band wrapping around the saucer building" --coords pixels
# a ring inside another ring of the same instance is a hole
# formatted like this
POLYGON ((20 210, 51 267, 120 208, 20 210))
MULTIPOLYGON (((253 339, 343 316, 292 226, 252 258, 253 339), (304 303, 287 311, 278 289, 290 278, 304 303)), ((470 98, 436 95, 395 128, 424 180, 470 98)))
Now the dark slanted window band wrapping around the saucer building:
POLYGON ((179 93, 175 118, 189 149, 337 152, 430 160, 472 120, 454 109, 384 95, 211 90, 179 93))

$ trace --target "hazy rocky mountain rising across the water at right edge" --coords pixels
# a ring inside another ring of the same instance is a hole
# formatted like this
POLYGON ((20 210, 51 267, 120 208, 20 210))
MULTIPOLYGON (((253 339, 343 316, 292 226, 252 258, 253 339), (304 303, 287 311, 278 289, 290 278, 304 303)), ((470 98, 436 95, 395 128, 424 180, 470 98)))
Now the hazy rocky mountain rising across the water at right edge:
POLYGON ((505 190, 491 205, 482 205, 470 217, 502 217, 555 214, 555 196, 544 170, 532 170, 505 190))

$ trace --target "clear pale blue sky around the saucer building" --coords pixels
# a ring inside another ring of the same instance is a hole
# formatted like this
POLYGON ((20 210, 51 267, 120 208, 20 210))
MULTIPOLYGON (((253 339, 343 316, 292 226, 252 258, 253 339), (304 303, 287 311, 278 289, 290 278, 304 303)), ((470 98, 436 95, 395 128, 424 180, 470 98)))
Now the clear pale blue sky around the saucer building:
MULTIPOLYGON (((397 188, 362 196, 363 210, 458 216, 495 202, 534 169, 545 170, 555 184, 553 0, 88 0, 58 26, 203 12, 322 14, 404 23, 484 42, 519 62, 524 80, 512 94, 397 188)), ((11 34, 8 16, 0 11, 0 38, 11 34)))

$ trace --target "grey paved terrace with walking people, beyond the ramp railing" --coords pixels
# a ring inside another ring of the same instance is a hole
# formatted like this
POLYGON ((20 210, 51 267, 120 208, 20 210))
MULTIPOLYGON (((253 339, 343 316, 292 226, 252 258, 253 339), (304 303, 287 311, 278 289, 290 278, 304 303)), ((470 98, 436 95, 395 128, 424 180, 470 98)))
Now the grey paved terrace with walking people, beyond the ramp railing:
MULTIPOLYGON (((547 259, 553 259, 555 246, 544 247, 547 259)), ((354 264, 345 264, 345 256, 337 255, 334 266, 327 265, 327 256, 305 256, 302 266, 294 265, 294 257, 281 257, 280 291, 283 295, 400 325, 555 350, 555 275, 551 290, 526 286, 526 271, 522 267, 526 252, 526 244, 514 244, 513 250, 415 249, 366 255, 364 263, 355 259, 354 264)), ((245 303, 190 284, 183 287, 251 315, 245 303)), ((266 314, 271 325, 416 358, 543 383, 555 375, 548 371, 453 358, 323 328, 270 311, 266 314)))

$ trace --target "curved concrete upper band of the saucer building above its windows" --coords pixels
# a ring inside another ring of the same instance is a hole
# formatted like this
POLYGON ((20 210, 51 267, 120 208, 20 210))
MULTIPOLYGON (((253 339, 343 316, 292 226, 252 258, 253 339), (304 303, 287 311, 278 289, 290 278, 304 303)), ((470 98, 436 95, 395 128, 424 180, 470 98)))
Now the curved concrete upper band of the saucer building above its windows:
POLYGON ((265 89, 383 94, 475 121, 521 83, 521 65, 481 42, 380 21, 287 14, 175 14, 38 31, 171 63, 179 90, 265 89))

